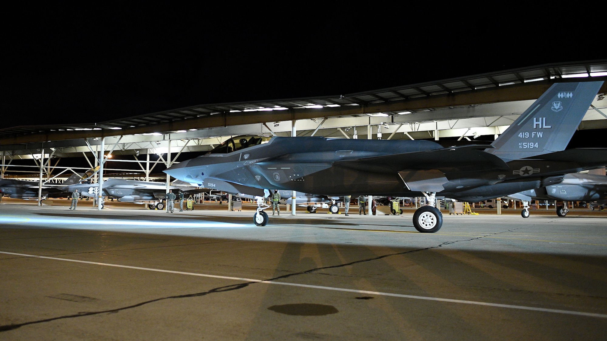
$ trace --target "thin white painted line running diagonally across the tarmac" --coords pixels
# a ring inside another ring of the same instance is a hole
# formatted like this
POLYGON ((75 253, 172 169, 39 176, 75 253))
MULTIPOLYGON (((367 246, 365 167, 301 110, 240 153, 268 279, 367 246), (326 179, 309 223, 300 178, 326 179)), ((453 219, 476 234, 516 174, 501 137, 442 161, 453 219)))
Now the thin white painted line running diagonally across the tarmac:
POLYGON ((440 298, 440 297, 428 297, 428 296, 416 296, 416 295, 405 295, 405 294, 393 294, 391 292, 368 291, 368 290, 347 289, 347 288, 334 288, 332 286, 320 286, 320 285, 308 285, 308 284, 300 284, 300 283, 276 282, 276 281, 271 281, 271 280, 247 279, 245 277, 229 277, 229 276, 220 276, 220 275, 198 274, 197 272, 184 272, 184 271, 173 271, 173 270, 154 269, 154 268, 141 268, 140 266, 119 265, 119 264, 110 264, 110 263, 98 263, 98 262, 89 262, 87 260, 75 260, 75 259, 68 259, 68 258, 47 257, 47 256, 29 255, 29 254, 17 254, 15 252, 5 252, 5 251, 0 251, 0 254, 19 255, 19 256, 23 256, 23 257, 45 258, 45 259, 52 259, 52 260, 64 260, 66 262, 86 263, 86 264, 93 264, 93 265, 114 266, 116 268, 126 268, 126 269, 136 269, 136 270, 166 272, 168 274, 180 274, 180 275, 191 275, 191 276, 198 276, 198 277, 209 277, 209 278, 213 278, 213 279, 239 280, 239 281, 243 281, 243 282, 256 282, 256 283, 266 283, 266 284, 273 284, 273 285, 298 286, 299 288, 323 289, 323 290, 332 290, 332 291, 356 292, 357 294, 381 295, 381 296, 390 296, 390 297, 402 297, 402 298, 405 298, 405 299, 430 300, 430 301, 438 301, 438 302, 462 303, 462 304, 482 305, 482 306, 495 306, 495 307, 498 307, 498 308, 522 309, 522 310, 542 311, 542 312, 555 312, 557 314, 569 314, 569 315, 578 315, 578 316, 587 316, 587 317, 599 317, 599 318, 602 318, 602 319, 607 319, 607 314, 597 314, 597 313, 594 313, 594 312, 573 311, 573 310, 563 310, 563 309, 549 309, 549 308, 537 308, 537 307, 534 307, 534 306, 522 306, 522 305, 504 305, 504 304, 500 304, 500 303, 490 303, 490 302, 443 299, 443 298, 440 298))

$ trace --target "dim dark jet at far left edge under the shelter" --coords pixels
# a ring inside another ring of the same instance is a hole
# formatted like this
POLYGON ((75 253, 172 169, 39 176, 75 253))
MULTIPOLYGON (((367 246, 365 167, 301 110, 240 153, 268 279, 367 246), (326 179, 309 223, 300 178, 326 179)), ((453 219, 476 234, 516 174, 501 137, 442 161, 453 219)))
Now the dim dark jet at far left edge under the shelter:
MULTIPOLYGON (((73 174, 62 184, 43 183, 42 199, 66 197, 70 192, 67 187, 80 183, 84 176, 85 174, 73 174)), ((40 181, 0 179, 0 193, 10 195, 11 198, 38 200, 39 186, 40 181)))

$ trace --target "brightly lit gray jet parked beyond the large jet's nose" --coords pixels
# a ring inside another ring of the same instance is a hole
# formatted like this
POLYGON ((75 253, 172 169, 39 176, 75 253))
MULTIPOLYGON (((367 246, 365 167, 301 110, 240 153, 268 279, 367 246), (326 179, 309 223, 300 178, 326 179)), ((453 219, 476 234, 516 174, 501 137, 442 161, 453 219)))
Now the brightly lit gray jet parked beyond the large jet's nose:
MULTIPOLYGON (((83 183, 67 187, 68 192, 73 192, 76 189, 83 197, 98 197, 99 187, 97 184, 83 183)), ((189 195, 205 191, 185 183, 172 184, 169 189, 172 189, 175 194, 183 192, 186 198, 189 195)), ((109 178, 103 182, 103 195, 118 198, 118 201, 123 203, 151 204, 152 209, 164 209, 162 200, 166 197, 166 183, 109 178)))

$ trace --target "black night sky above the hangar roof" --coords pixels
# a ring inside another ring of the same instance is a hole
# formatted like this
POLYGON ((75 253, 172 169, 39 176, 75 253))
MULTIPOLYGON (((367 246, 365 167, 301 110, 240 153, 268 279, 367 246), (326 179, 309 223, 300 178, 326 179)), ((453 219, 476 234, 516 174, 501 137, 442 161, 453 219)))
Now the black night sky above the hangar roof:
POLYGON ((521 29, 497 24, 504 17, 388 17, 330 3, 330 13, 297 17, 113 3, 13 13, 2 24, 0 129, 605 58, 586 26, 521 29))

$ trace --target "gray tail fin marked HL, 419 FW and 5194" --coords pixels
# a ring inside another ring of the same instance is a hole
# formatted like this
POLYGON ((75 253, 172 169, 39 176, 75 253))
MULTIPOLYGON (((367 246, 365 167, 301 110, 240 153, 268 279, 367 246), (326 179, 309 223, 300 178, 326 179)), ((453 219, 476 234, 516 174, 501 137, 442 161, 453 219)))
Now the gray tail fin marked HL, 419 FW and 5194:
POLYGON ((504 161, 565 150, 603 81, 553 84, 486 152, 504 161))

